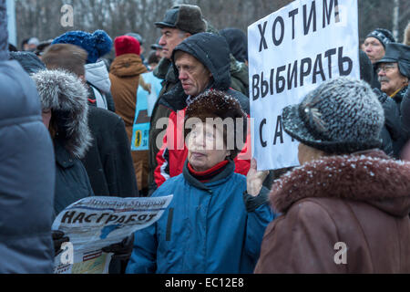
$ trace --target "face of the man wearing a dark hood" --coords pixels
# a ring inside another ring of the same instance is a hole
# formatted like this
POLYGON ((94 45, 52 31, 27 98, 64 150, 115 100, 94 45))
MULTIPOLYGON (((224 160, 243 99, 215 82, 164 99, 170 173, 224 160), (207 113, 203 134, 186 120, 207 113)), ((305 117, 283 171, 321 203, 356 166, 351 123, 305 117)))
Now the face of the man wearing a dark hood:
POLYGON ((177 51, 175 66, 178 68, 179 80, 185 94, 196 97, 210 84, 212 74, 198 59, 190 54, 177 51))

